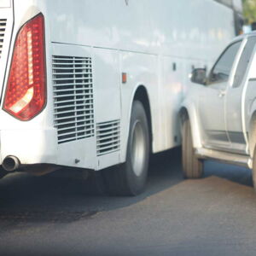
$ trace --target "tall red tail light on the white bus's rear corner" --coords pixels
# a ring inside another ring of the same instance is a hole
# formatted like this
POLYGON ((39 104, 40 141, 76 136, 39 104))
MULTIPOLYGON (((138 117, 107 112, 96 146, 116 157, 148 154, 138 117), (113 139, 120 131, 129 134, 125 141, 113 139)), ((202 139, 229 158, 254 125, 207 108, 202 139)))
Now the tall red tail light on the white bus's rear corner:
POLYGON ((21 27, 15 41, 3 109, 22 121, 32 119, 45 105, 44 16, 21 27))

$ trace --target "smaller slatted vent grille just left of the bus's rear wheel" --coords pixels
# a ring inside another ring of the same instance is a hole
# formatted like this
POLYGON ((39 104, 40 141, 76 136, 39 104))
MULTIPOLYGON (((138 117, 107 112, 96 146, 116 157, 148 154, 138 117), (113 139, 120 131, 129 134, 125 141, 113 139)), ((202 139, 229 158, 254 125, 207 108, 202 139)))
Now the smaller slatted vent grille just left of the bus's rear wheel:
POLYGON ((97 124, 97 155, 109 154, 120 148, 119 120, 97 124))

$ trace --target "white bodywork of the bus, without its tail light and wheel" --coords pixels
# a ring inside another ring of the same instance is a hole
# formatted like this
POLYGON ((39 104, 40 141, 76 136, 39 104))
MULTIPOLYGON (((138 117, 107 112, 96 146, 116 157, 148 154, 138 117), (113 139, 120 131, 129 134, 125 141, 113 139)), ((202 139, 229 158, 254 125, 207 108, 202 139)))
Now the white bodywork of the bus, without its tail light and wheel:
POLYGON ((212 65, 235 35, 241 1, 218 2, 0 0, 0 164, 8 156, 21 165, 91 170, 123 163, 135 98, 147 112, 153 153, 179 145, 177 113, 187 74, 212 65), (20 121, 3 111, 3 99, 17 35, 38 14, 44 15, 47 99, 40 113, 20 121), (82 92, 79 73, 88 79, 82 92), (68 90, 73 107, 63 109, 58 101, 68 90), (79 96, 91 100, 80 111, 79 96))

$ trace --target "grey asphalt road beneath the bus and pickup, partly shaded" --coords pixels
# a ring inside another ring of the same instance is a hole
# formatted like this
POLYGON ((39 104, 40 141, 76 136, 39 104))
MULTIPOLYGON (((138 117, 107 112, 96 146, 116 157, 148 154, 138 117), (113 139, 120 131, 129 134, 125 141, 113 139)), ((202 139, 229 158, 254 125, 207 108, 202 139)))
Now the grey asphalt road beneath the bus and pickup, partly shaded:
POLYGON ((154 156, 147 190, 130 198, 67 177, 4 177, 0 255, 254 255, 251 172, 208 161, 204 178, 183 180, 180 169, 177 150, 154 156))

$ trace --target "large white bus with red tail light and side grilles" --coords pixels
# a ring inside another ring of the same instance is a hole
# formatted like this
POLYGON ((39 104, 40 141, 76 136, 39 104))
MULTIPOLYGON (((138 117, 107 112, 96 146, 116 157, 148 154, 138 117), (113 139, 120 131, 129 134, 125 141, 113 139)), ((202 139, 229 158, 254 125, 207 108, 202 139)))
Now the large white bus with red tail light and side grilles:
POLYGON ((0 0, 1 172, 107 168, 109 192, 139 194, 239 17, 240 0, 0 0))

